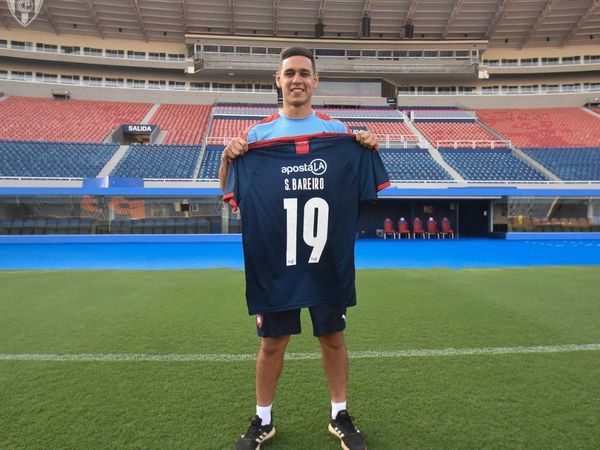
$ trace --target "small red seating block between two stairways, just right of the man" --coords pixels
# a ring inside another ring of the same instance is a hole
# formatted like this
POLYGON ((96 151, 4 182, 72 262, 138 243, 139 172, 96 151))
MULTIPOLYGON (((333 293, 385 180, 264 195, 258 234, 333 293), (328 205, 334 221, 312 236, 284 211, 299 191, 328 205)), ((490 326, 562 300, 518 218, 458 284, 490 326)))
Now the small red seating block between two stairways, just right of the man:
MULTIPOLYGON (((475 122, 414 122, 415 127, 434 147, 438 141, 457 142, 457 147, 472 147, 472 141, 483 141, 476 144, 479 148, 490 146, 484 142, 496 141, 496 138, 475 122)), ((496 145, 497 141, 496 141, 496 145)), ((500 146, 504 146, 500 144, 500 146)))

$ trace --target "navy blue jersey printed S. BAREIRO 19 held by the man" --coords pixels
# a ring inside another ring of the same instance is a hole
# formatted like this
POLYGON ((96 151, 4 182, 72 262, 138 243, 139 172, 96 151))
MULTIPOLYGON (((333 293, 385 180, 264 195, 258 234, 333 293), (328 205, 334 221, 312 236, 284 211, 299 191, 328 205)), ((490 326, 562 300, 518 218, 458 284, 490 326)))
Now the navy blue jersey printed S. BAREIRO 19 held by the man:
POLYGON ((338 133, 249 148, 232 163, 223 199, 242 215, 250 314, 355 305, 359 204, 389 186, 379 154, 338 133))

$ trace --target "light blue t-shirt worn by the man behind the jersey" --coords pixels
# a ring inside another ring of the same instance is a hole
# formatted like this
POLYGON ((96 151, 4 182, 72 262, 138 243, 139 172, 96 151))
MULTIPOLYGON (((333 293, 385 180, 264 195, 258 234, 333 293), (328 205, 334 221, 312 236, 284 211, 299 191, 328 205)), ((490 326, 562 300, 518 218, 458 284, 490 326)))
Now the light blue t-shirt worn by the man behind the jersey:
POLYGON ((292 119, 278 112, 250 127, 246 141, 256 142, 316 133, 348 133, 348 129, 339 120, 315 111, 301 119, 292 119))

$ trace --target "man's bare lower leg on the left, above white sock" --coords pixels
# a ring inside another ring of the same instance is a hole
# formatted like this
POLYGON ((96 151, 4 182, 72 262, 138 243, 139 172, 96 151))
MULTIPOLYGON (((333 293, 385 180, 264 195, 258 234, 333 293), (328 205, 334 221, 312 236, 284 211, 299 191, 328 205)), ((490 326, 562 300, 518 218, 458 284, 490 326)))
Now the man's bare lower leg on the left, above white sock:
POLYGON ((273 403, 277 381, 283 369, 283 355, 289 340, 289 336, 260 339, 260 350, 256 359, 256 404, 258 406, 270 406, 273 403))

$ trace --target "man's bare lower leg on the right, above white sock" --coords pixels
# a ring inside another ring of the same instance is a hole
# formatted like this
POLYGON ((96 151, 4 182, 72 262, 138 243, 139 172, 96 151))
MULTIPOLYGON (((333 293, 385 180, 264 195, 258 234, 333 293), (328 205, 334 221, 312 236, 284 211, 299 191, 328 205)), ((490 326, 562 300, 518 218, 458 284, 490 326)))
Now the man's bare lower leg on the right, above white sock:
POLYGON ((344 342, 344 332, 336 331, 319 336, 319 343, 331 401, 345 402, 348 391, 348 352, 344 342))

